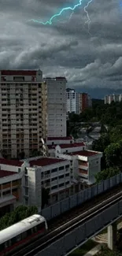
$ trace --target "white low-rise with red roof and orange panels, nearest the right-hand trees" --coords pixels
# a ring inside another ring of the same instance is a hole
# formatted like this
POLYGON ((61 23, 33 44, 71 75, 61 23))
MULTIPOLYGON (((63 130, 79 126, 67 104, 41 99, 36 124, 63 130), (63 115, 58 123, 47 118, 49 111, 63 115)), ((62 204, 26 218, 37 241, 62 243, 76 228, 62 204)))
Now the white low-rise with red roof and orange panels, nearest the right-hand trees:
POLYGON ((57 150, 56 156, 70 161, 72 179, 79 180, 81 183, 94 184, 95 175, 101 171, 102 152, 80 150, 62 153, 57 150))

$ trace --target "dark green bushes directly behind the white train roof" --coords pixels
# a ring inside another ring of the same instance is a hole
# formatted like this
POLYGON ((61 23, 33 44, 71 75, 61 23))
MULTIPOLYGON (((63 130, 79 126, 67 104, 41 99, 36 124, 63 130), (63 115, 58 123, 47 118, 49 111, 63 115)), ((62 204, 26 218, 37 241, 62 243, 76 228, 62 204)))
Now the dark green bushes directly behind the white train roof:
POLYGON ((13 212, 6 213, 0 218, 0 230, 7 228, 35 213, 38 213, 36 206, 18 206, 13 212))

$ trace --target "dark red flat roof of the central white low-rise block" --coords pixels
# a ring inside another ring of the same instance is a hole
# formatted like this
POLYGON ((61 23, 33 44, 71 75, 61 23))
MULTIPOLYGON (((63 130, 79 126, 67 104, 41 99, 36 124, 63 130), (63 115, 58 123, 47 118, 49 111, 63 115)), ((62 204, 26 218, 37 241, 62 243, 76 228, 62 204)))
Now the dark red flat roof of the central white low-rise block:
POLYGON ((46 166, 46 165, 54 165, 57 163, 60 163, 61 161, 65 161, 64 159, 59 159, 59 158, 39 158, 37 160, 32 160, 29 161, 30 166, 46 166))

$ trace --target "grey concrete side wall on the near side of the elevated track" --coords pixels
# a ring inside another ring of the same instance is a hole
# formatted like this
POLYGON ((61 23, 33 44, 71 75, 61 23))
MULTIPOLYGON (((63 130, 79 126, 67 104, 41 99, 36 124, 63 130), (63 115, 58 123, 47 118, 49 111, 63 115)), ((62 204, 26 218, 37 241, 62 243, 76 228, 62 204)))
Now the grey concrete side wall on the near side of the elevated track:
POLYGON ((62 256, 68 255, 72 250, 76 250, 76 247, 86 243, 87 239, 90 239, 94 234, 100 232, 103 228, 107 227, 110 223, 113 223, 122 215, 122 200, 115 205, 110 206, 108 209, 99 213, 91 220, 84 224, 80 224, 79 227, 74 228, 72 232, 68 232, 61 239, 50 244, 50 246, 43 249, 36 256, 62 256))

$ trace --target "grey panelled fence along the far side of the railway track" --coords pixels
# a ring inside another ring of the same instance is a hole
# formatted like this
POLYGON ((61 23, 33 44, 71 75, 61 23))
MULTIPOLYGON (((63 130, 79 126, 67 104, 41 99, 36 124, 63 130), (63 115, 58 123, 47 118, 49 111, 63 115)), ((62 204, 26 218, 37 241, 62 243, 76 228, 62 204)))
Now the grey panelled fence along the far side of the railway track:
POLYGON ((88 199, 94 198, 95 195, 102 194, 109 190, 109 188, 115 187, 120 183, 122 183, 122 173, 104 180, 93 187, 88 187, 83 191, 79 191, 76 195, 72 195, 61 202, 57 202, 56 204, 43 209, 41 214, 46 217, 47 221, 49 221, 53 217, 57 217, 61 213, 65 213, 67 210, 70 210, 75 206, 79 206, 83 202, 87 202, 88 199))

